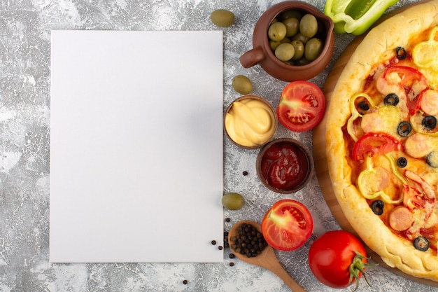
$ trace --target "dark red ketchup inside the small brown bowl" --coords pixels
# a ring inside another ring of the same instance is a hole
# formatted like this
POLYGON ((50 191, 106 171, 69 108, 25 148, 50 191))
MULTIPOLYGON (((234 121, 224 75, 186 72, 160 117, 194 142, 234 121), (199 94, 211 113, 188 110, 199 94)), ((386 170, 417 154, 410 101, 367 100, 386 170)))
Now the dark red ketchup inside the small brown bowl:
POLYGON ((262 157, 262 176, 278 190, 290 190, 304 182, 309 162, 304 151, 288 142, 270 146, 262 157))

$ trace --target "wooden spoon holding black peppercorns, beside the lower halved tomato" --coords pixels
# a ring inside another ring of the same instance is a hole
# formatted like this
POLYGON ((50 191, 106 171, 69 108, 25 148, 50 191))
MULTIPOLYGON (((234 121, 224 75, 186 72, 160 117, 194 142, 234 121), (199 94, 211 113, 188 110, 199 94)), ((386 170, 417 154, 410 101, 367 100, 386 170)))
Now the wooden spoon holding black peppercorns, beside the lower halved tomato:
POLYGON ((253 265, 259 265, 260 267, 264 267, 265 269, 270 270, 271 272, 276 274, 278 277, 280 277, 280 279, 282 279, 285 282, 285 284, 288 285, 289 288, 293 292, 306 292, 302 288, 302 286, 299 286, 297 281, 295 281, 294 279, 292 279, 292 277, 290 277, 288 272, 286 272, 284 270, 281 263, 278 262, 278 258, 276 257, 272 246, 268 245, 267 247, 264 248, 262 253, 260 253, 259 255, 255 256, 255 257, 252 257, 252 258, 248 258, 247 256, 234 251, 234 249, 232 248, 232 244, 233 244, 232 237, 237 235, 237 228, 240 225, 242 225, 243 223, 253 225, 255 228, 257 228, 257 230, 262 232, 262 226, 259 223, 256 223, 254 221, 243 220, 243 221, 239 221, 236 224, 234 224, 233 227, 228 232, 229 248, 232 250, 234 255, 246 263, 250 263, 253 265))

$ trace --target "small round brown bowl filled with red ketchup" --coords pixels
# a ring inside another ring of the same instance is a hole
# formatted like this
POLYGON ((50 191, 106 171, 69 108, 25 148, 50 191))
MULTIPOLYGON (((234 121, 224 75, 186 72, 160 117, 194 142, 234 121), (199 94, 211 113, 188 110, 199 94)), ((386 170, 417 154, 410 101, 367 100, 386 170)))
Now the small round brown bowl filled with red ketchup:
POLYGON ((295 193, 304 188, 313 176, 313 157, 309 148, 300 141, 292 138, 280 138, 270 141, 257 155, 255 163, 257 176, 260 181, 262 181, 264 186, 269 188, 269 190, 273 190, 276 193, 295 193), (291 153, 290 151, 295 153, 296 159, 290 158, 292 155, 286 154, 285 149, 289 149, 288 153, 291 153), (276 155, 272 153, 276 153, 276 155), (281 153, 281 155, 278 153, 281 153), (283 169, 283 171, 285 171, 285 167, 278 166, 280 165, 279 162, 285 157, 288 157, 288 165, 292 166, 292 175, 286 178, 283 177, 288 183, 281 184, 281 186, 274 186, 276 179, 270 179, 269 177, 271 174, 278 172, 274 172, 272 169, 283 169), (276 168, 277 166, 278 168, 276 168))

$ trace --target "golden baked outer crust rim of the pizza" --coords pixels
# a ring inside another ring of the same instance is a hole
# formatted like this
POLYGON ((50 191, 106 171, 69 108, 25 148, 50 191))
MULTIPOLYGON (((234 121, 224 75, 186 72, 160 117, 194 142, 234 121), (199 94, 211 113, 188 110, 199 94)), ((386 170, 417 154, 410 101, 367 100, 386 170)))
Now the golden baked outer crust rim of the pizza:
POLYGON ((414 277, 438 281, 438 258, 432 251, 418 251, 411 242, 391 232, 369 208, 367 201, 351 184, 351 167, 341 128, 351 116, 349 98, 363 88, 376 60, 406 46, 412 36, 438 25, 438 0, 407 8, 381 22, 365 36, 348 60, 334 87, 327 110, 326 155, 334 194, 346 219, 361 239, 390 267, 414 277), (370 228, 373 226, 373 228, 370 228))

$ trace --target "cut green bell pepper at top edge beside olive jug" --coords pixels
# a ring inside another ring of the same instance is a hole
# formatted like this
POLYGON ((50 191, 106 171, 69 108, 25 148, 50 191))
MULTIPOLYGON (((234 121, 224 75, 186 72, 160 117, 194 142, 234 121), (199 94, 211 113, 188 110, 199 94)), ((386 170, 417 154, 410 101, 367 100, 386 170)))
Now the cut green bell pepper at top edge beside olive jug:
POLYGON ((339 34, 363 34, 398 0, 327 0, 324 14, 339 34))

